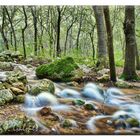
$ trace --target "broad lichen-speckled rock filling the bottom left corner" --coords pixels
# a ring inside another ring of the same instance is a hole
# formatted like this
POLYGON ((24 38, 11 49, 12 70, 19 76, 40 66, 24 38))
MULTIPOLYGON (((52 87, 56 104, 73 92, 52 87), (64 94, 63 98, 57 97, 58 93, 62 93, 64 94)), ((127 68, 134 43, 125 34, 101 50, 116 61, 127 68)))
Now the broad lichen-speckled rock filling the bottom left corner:
POLYGON ((0 123, 0 134, 34 134, 38 125, 31 118, 19 116, 0 123))

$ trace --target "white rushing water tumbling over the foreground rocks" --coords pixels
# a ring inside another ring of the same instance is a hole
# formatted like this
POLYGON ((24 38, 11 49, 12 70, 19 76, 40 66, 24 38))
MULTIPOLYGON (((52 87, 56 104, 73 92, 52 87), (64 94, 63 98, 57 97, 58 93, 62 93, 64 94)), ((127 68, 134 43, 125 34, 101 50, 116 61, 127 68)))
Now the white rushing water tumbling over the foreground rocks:
MULTIPOLYGON (((99 119, 109 118, 109 120, 125 119, 132 117, 140 121, 140 104, 126 97, 119 89, 109 88, 102 90, 95 84, 87 84, 81 91, 63 88, 55 84, 55 94, 59 98, 82 99, 86 103, 96 101, 97 103, 111 105, 118 108, 118 111, 112 115, 101 114, 91 117, 86 123, 87 129, 96 132, 96 121, 99 119)), ((70 105, 60 104, 55 95, 48 92, 42 92, 37 96, 26 94, 24 109, 30 115, 36 115, 36 112, 45 106, 49 106, 53 111, 72 111, 70 105)))

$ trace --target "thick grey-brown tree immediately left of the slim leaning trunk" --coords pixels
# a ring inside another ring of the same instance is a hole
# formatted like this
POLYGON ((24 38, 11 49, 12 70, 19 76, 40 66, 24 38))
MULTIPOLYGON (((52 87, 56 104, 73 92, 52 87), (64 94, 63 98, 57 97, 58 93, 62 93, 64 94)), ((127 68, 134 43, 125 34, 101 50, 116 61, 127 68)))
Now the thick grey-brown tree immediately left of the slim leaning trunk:
POLYGON ((107 66, 107 45, 106 45, 106 33, 105 33, 105 23, 104 23, 104 14, 102 6, 93 6, 92 7, 95 14, 96 25, 97 25, 97 57, 98 57, 98 66, 107 66))

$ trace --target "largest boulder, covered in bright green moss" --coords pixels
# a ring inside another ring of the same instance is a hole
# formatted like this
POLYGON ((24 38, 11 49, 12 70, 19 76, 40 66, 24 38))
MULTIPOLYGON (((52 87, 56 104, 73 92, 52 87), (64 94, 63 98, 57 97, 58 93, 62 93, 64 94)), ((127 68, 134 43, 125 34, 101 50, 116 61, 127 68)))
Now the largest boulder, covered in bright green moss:
POLYGON ((71 57, 56 60, 50 64, 43 64, 36 69, 38 78, 49 78, 52 80, 70 81, 74 76, 74 70, 78 69, 78 65, 71 57))

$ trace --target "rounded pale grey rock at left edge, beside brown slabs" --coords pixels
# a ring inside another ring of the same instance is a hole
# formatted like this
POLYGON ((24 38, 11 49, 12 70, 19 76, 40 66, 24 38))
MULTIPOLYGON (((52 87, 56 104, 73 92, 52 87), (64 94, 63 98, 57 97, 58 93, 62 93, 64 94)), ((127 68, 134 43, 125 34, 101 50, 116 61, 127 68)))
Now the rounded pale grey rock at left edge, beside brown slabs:
POLYGON ((0 90, 0 105, 4 105, 6 103, 9 103, 13 100, 13 94, 8 89, 0 90))

